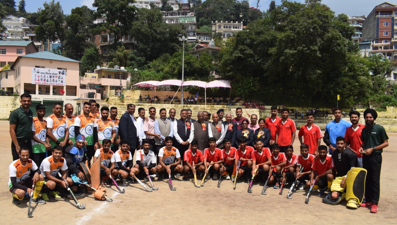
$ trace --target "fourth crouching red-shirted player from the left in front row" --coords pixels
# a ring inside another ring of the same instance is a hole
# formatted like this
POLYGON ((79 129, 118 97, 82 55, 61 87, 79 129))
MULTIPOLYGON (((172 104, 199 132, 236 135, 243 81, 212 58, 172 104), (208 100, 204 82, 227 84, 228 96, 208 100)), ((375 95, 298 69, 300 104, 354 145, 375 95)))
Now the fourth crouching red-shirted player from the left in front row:
POLYGON ((244 172, 248 171, 248 168, 252 168, 252 152, 254 152, 254 148, 246 145, 247 138, 245 137, 239 137, 237 142, 239 143, 240 148, 237 149, 234 155, 234 165, 237 168, 239 160, 241 161, 239 172, 236 174, 237 177, 241 177, 244 172))

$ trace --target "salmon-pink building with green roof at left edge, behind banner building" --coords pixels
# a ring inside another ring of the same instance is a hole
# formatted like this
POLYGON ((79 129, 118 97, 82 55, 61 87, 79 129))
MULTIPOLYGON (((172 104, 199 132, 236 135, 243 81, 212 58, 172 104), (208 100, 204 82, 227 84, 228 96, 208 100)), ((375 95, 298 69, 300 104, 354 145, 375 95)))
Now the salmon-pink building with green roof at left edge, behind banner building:
POLYGON ((7 64, 13 65, 18 56, 37 52, 33 41, 3 40, 0 41, 0 70, 7 64))

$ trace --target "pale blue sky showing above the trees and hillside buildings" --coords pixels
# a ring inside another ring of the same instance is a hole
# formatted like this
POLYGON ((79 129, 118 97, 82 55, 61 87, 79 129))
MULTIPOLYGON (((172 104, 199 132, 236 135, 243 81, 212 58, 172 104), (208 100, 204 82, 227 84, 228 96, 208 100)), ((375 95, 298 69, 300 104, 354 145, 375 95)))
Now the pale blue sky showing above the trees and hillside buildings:
MULTIPOLYGON (((58 0, 64 10, 65 14, 69 14, 72 8, 80 6, 89 6, 92 8, 94 0, 58 0)), ((183 0, 187 2, 187 0, 183 0)), ((269 8, 271 0, 260 0, 259 9, 266 11, 269 8)), ((304 0, 296 0, 297 2, 304 2, 304 0)), ((335 14, 345 13, 349 16, 368 15, 375 6, 382 4, 386 0, 322 0, 322 3, 328 5, 335 14)), ((18 5, 18 0, 15 0, 18 5)), ((27 12, 37 12, 38 8, 42 8, 45 0, 25 0, 27 12)), ((50 2, 50 0, 47 0, 50 2)), ((57 2, 57 0, 56 0, 57 2)), ((250 6, 256 7, 257 0, 249 0, 250 6)), ((281 0, 276 0, 276 5, 280 4, 281 0)), ((391 4, 397 4, 397 0, 389 0, 391 4)))

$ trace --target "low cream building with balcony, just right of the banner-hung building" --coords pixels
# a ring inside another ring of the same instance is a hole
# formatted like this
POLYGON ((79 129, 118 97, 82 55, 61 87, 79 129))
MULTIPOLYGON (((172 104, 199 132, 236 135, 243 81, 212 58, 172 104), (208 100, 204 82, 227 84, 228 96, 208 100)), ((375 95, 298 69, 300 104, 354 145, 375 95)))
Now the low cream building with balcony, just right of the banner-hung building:
POLYGON ((120 85, 123 88, 127 87, 130 75, 123 67, 100 67, 95 69, 94 73, 85 73, 84 77, 80 77, 80 98, 91 98, 95 94, 96 98, 104 99, 110 92, 121 89, 120 85))

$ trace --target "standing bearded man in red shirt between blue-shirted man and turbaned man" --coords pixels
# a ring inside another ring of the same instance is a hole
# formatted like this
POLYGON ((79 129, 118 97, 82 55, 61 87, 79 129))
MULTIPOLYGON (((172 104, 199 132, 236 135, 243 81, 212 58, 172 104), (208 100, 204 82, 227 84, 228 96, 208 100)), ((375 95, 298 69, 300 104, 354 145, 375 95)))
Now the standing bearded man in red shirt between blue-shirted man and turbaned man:
POLYGON ((346 129, 345 142, 348 148, 357 153, 357 166, 362 168, 362 154, 360 154, 360 147, 362 145, 361 132, 365 125, 359 123, 360 113, 357 111, 351 111, 349 113, 351 127, 346 129))

